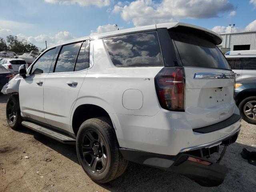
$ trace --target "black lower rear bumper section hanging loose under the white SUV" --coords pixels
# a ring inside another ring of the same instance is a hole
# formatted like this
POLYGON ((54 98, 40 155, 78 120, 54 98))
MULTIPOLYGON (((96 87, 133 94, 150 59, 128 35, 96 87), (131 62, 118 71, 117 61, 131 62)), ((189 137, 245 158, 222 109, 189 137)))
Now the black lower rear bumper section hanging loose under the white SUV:
MULTIPOLYGON (((228 137, 223 138, 223 140, 220 141, 220 144, 228 145, 234 143, 239 131, 240 128, 228 137)), ((191 180, 194 180, 201 186, 213 187, 222 184, 228 170, 226 166, 219 164, 219 160, 221 160, 225 150, 220 154, 218 162, 212 162, 206 158, 210 157, 212 153, 218 152, 218 146, 215 145, 212 148, 190 150, 189 152, 179 153, 176 156, 124 148, 121 148, 120 152, 126 160, 182 174, 191 180), (206 153, 206 151, 208 153, 206 153)))

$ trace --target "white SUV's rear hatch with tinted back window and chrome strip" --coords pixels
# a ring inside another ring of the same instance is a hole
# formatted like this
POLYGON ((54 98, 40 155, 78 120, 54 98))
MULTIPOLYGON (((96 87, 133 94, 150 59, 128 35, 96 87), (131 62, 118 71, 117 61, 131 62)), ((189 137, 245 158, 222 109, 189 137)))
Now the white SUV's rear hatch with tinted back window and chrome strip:
POLYGON ((234 74, 216 36, 189 27, 169 30, 184 67, 185 112, 192 128, 223 121, 234 112, 234 74))

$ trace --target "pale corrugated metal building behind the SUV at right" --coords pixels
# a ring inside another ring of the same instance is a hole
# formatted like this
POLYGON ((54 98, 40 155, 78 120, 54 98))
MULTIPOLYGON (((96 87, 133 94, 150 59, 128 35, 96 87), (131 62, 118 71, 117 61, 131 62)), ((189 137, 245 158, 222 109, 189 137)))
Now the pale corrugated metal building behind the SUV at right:
POLYGON ((223 41, 219 46, 223 51, 256 50, 256 31, 222 33, 223 41))

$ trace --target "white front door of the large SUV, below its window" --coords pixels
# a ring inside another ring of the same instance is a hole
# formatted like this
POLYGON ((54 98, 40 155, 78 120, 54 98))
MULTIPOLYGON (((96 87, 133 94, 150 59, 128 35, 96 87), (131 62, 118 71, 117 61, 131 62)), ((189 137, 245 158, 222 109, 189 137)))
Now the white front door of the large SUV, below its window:
POLYGON ((22 116, 40 122, 44 119, 44 80, 47 74, 29 75, 22 78, 19 86, 20 111, 22 116))

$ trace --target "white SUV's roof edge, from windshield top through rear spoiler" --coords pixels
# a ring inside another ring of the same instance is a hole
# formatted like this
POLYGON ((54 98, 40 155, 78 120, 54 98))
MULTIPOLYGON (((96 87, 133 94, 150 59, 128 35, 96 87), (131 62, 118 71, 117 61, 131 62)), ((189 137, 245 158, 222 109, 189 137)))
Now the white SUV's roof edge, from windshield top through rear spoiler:
MULTIPOLYGON (((154 29, 157 29, 157 28, 170 29, 170 28, 175 28, 175 27, 178 27, 178 26, 191 27, 191 28, 195 28, 195 29, 198 29, 198 30, 205 31, 205 32, 211 34, 212 36, 215 36, 216 44, 220 44, 222 42, 222 37, 219 34, 213 32, 209 29, 199 27, 199 26, 195 26, 195 25, 191 25, 191 24, 182 23, 182 22, 169 22, 169 23, 160 23, 160 24, 134 27, 134 28, 128 28, 128 29, 122 29, 122 30, 115 30, 115 31, 110 31, 110 32, 105 32, 105 33, 100 33, 100 34, 92 34, 90 36, 85 36, 85 37, 82 37, 82 38, 66 41, 66 42, 63 42, 63 43, 60 43, 60 44, 57 44, 57 45, 77 42, 77 41, 86 40, 86 39, 103 38, 103 37, 106 37, 106 36, 112 36, 112 35, 118 35, 118 34, 126 34, 126 33, 146 31, 146 30, 154 30, 154 29)), ((55 45, 55 46, 57 46, 57 45, 55 45)), ((52 46, 50 48, 53 48, 55 46, 52 46)))

